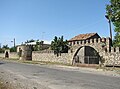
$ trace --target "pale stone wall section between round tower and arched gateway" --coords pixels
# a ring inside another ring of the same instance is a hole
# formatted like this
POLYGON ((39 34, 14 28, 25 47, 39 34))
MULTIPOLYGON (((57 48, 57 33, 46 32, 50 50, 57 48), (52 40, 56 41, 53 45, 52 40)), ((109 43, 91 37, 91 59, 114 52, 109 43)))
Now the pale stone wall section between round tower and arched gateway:
POLYGON ((58 62, 63 64, 72 64, 72 53, 61 53, 61 56, 54 55, 53 52, 32 52, 33 61, 48 61, 48 62, 58 62))

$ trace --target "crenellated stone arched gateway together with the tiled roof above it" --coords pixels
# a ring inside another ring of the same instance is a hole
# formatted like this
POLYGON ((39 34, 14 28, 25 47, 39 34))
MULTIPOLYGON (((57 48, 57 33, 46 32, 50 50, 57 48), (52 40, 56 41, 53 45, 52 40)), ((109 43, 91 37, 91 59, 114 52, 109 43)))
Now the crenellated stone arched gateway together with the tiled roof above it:
POLYGON ((73 64, 99 64, 111 46, 110 38, 100 38, 97 33, 80 34, 68 42, 73 51, 73 64))

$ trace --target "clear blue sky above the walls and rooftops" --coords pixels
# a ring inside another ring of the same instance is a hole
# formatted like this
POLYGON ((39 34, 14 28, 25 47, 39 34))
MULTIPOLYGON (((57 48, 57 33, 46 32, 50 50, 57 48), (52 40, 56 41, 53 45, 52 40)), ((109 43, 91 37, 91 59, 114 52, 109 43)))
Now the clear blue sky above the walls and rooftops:
MULTIPOLYGON (((71 39, 78 34, 109 37, 109 0, 0 0, 0 44, 26 40, 71 39)), ((113 27, 112 27, 113 28, 113 27)), ((114 33, 113 33, 114 34, 114 33)))

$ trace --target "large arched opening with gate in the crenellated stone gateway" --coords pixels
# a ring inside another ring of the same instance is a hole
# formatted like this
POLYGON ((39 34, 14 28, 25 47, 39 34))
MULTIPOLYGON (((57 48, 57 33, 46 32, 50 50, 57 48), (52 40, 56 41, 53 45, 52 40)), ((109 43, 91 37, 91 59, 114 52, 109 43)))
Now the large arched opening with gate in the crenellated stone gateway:
POLYGON ((99 61, 99 53, 91 46, 80 47, 73 57, 73 64, 99 64, 99 61))

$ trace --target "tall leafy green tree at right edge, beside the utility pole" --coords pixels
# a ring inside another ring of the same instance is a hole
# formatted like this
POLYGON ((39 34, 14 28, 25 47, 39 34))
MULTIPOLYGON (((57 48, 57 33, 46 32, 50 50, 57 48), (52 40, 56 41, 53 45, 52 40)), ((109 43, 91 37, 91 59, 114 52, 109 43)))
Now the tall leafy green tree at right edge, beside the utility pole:
POLYGON ((110 4, 106 5, 106 14, 115 26, 113 45, 120 47, 120 0, 110 0, 110 4))

